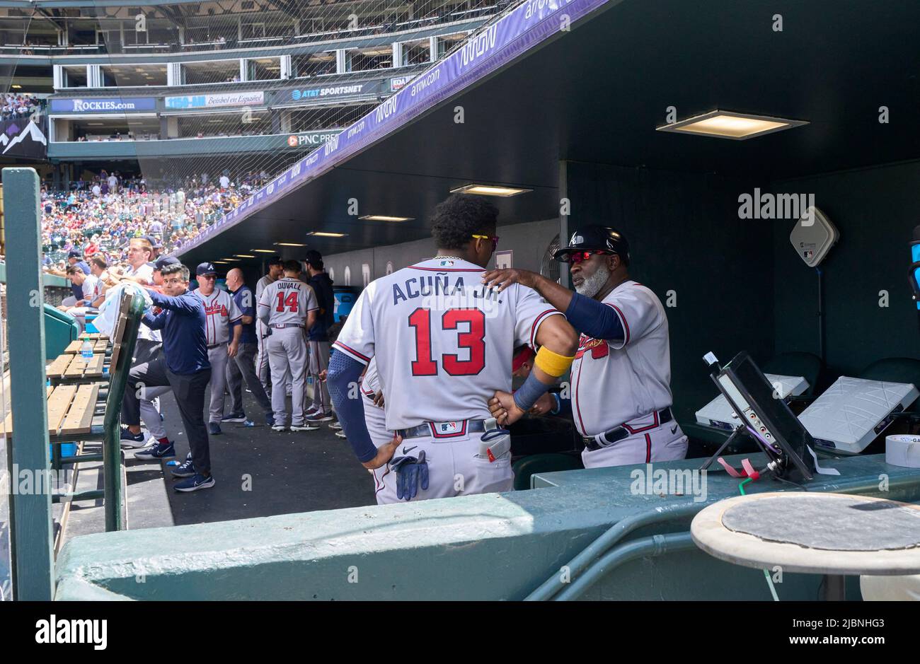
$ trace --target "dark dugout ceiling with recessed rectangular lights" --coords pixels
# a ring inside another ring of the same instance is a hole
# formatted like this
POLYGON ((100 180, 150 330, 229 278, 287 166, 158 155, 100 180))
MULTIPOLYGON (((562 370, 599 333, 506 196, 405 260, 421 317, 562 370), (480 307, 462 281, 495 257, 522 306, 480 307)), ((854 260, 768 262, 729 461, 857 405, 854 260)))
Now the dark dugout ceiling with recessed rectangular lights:
POLYGON ((913 159, 920 156, 917 43, 920 4, 906 0, 609 0, 571 31, 183 258, 194 265, 274 241, 331 254, 417 239, 428 235, 431 208, 469 182, 534 189, 497 200, 501 223, 552 218, 559 159, 764 184, 913 159), (747 141, 656 132, 672 106, 678 119, 723 109, 809 124, 747 141), (881 106, 887 123, 879 121, 881 106), (454 121, 457 107, 462 123, 454 121), (350 199, 360 214, 415 219, 357 221, 350 199), (349 235, 306 238, 313 230, 349 235))

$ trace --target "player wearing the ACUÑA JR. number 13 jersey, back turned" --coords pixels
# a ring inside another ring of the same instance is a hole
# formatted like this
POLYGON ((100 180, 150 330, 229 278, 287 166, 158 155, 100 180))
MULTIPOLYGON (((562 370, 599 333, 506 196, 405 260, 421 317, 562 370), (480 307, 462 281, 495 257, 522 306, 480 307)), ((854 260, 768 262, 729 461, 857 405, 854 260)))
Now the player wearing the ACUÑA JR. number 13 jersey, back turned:
POLYGON ((497 216, 481 197, 444 200, 432 220, 437 255, 368 285, 333 344, 329 395, 358 459, 382 469, 379 503, 511 489, 511 437, 489 418, 487 402, 511 388, 512 349, 540 347, 519 390, 524 410, 574 358, 574 330, 535 291, 489 295, 481 285, 497 216), (349 395, 372 359, 385 430, 397 433, 379 448, 365 422, 366 397, 349 395))

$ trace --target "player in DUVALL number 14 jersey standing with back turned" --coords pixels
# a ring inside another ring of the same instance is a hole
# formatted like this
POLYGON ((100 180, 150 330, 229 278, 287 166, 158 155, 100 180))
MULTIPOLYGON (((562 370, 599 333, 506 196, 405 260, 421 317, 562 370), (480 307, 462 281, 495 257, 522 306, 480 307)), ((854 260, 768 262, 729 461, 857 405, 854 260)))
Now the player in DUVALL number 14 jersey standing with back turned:
POLYGON ((274 431, 287 429, 284 403, 284 376, 291 375, 291 430, 312 431, 319 425, 304 420, 304 391, 306 372, 305 330, 316 322, 316 294, 309 284, 300 280, 300 263, 284 262, 284 276, 272 281, 259 297, 259 319, 269 328, 265 339, 271 369, 271 409, 274 411, 274 431))

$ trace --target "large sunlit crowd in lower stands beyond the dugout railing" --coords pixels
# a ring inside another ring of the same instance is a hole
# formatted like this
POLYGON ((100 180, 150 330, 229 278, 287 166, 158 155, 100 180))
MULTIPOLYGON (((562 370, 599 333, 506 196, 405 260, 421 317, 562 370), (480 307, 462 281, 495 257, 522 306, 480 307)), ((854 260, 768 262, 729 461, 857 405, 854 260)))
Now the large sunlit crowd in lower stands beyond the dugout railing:
POLYGON ((225 212, 240 204, 268 175, 247 173, 232 178, 206 173, 173 183, 148 183, 102 171, 69 191, 45 187, 41 192, 43 263, 63 272, 71 252, 85 258, 99 254, 110 264, 127 258, 132 237, 149 235, 169 254, 188 244, 225 212), (148 187, 148 184, 150 185, 148 187))

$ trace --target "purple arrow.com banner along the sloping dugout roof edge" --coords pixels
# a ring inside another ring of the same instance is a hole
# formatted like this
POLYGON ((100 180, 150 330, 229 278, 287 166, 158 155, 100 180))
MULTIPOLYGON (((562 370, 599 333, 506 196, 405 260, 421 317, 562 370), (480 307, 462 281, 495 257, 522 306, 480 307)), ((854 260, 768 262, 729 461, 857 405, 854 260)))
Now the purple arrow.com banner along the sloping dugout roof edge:
POLYGON ((235 210, 224 214, 184 250, 199 246, 213 235, 242 222, 252 212, 279 200, 306 181, 323 175, 539 42, 559 31, 569 30, 581 17, 608 2, 616 4, 617 1, 529 0, 515 7, 495 23, 473 34, 456 51, 419 74, 411 84, 402 86, 361 120, 283 171, 235 210))

